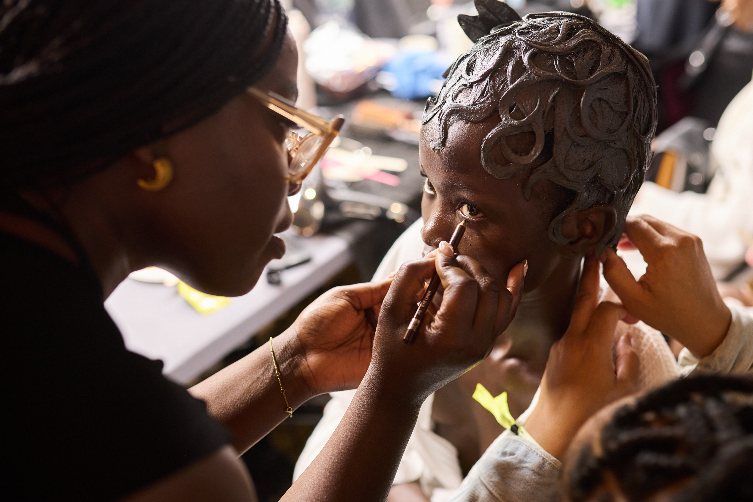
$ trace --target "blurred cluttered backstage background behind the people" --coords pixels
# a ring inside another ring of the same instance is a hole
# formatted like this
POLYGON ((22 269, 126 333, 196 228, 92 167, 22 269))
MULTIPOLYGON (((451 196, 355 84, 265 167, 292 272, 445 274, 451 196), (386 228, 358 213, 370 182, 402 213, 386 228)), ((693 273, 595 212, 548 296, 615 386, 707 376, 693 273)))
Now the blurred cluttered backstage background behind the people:
MULTIPOLYGON (((346 117, 340 137, 290 198, 287 254, 245 297, 210 297, 145 269, 106 303, 129 348, 165 361, 166 374, 184 385, 282 333, 323 291, 368 281, 392 242, 420 218, 419 119, 443 72, 471 47, 457 15, 476 14, 465 0, 283 4, 300 58, 297 106, 346 117)), ((634 212, 700 235, 724 294, 753 304, 745 260, 747 253, 753 262, 753 0, 508 4, 520 14, 582 14, 648 56, 660 121, 650 181, 634 212)), ((626 259, 640 275, 641 258, 626 259)), ((327 400, 309 401, 243 455, 261 502, 278 500, 291 485, 327 400)))

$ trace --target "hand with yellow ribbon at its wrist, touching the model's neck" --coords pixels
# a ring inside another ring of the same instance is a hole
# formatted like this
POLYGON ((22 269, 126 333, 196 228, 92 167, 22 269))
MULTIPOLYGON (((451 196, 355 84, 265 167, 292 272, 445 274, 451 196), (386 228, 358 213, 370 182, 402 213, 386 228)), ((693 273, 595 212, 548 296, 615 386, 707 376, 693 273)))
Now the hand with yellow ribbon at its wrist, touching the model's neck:
POLYGON ((626 310, 599 303, 599 263, 587 257, 570 325, 552 345, 538 404, 526 431, 556 458, 565 455, 578 429, 599 409, 638 390, 638 356, 627 333, 614 348, 617 321, 626 310))

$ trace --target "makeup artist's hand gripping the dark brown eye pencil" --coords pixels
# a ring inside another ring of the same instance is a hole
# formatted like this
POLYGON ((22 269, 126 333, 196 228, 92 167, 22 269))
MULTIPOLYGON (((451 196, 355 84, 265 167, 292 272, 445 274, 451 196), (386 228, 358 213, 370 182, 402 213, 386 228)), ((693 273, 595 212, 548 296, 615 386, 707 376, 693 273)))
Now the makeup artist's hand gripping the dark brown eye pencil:
POLYGON ((518 263, 500 284, 471 257, 453 256, 447 242, 434 256, 404 264, 383 302, 364 384, 416 405, 477 364, 514 317, 525 268, 518 263), (403 336, 434 270, 444 288, 441 306, 430 309, 416 341, 406 345, 403 336))

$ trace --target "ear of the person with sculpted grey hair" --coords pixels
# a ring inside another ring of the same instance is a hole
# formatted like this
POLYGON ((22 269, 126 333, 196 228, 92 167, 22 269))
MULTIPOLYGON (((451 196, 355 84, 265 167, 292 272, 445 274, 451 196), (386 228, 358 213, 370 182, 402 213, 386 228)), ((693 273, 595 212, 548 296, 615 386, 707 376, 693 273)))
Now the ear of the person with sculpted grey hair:
POLYGON ((599 244, 614 230, 617 211, 608 204, 597 204, 562 218, 562 237, 570 242, 563 250, 569 256, 596 251, 599 244))

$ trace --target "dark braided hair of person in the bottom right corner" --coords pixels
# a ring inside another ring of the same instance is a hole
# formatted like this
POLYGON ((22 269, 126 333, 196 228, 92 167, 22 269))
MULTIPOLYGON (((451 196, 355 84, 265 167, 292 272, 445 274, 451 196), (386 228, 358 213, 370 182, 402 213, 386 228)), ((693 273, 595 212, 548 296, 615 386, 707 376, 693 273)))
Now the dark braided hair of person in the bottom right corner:
POLYGON ((753 380, 679 379, 614 413, 602 454, 584 446, 567 473, 570 500, 617 479, 626 500, 679 486, 671 502, 753 500, 753 380))

